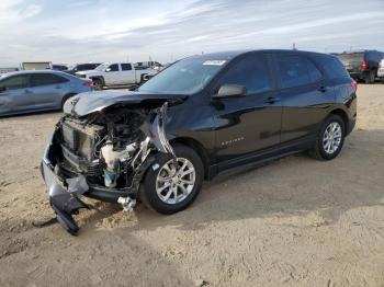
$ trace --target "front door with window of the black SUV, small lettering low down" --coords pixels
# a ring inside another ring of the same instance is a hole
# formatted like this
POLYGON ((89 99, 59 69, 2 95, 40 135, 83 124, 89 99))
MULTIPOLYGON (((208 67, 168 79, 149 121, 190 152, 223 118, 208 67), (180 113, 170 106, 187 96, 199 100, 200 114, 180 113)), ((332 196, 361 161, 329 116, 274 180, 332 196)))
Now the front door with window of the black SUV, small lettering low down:
POLYGON ((217 88, 238 84, 247 89, 244 97, 213 100, 216 120, 216 159, 230 168, 250 160, 250 153, 280 142, 282 106, 274 91, 269 56, 252 53, 235 60, 217 88), (233 164, 231 164, 233 163, 233 164))

